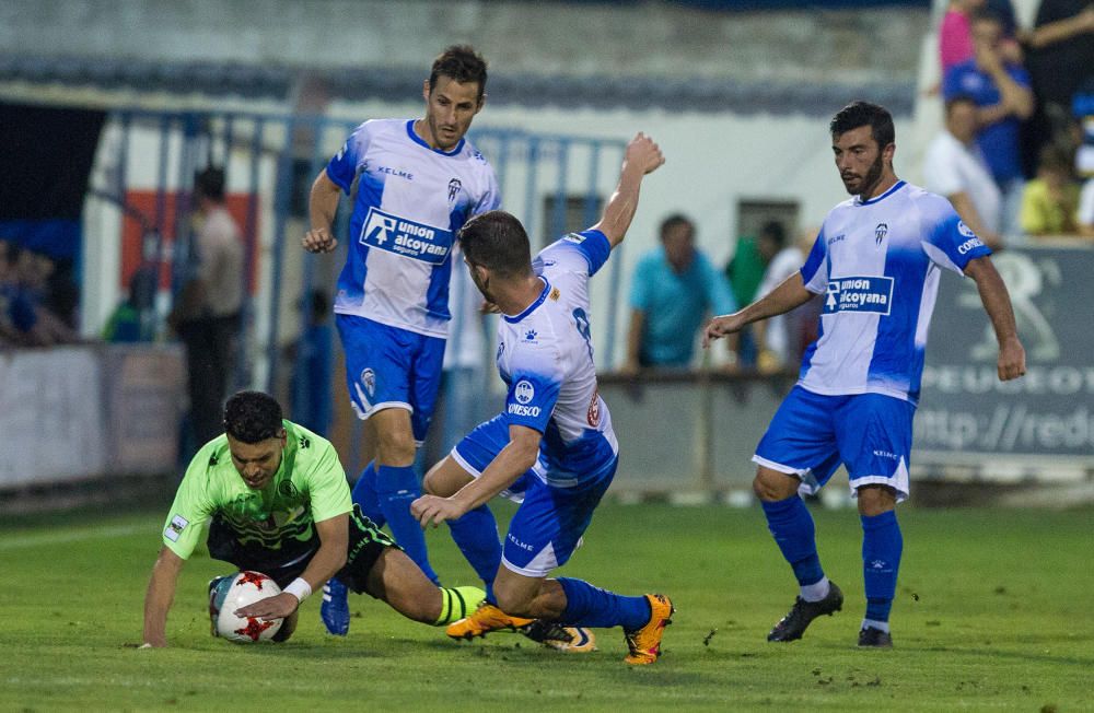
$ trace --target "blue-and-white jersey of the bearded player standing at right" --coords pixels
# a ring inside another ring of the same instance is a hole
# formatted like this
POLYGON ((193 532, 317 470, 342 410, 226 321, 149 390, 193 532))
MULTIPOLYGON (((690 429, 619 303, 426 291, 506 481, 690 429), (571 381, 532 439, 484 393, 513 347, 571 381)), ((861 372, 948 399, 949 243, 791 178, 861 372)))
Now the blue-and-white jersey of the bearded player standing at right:
POLYGON ((950 201, 903 180, 836 206, 801 270, 805 288, 825 297, 799 384, 916 402, 940 268, 963 273, 990 254, 950 201))

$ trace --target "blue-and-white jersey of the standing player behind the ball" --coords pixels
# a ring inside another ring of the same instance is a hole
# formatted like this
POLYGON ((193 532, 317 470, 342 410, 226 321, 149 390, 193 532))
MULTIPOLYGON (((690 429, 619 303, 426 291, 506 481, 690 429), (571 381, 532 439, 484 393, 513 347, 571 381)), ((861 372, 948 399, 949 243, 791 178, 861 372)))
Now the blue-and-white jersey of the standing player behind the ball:
POLYGON ((445 337, 453 241, 500 201, 486 159, 466 139, 438 151, 412 119, 381 119, 353 131, 327 176, 347 194, 357 180, 335 312, 445 337))

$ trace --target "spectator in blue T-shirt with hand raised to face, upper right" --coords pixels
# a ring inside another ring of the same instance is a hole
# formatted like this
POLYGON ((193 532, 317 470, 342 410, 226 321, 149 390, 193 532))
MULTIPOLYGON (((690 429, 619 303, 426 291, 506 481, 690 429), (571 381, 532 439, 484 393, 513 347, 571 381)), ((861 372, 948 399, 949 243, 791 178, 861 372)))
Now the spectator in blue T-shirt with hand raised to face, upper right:
POLYGON ((1002 194, 1001 231, 1011 234, 1017 230, 1025 183, 1019 132, 1022 120, 1033 114, 1034 102, 1029 75, 1000 52, 1002 32, 1002 23, 996 15, 981 12, 974 16, 976 57, 950 69, 942 82, 942 95, 950 101, 967 94, 976 102, 980 126, 977 144, 1002 194))

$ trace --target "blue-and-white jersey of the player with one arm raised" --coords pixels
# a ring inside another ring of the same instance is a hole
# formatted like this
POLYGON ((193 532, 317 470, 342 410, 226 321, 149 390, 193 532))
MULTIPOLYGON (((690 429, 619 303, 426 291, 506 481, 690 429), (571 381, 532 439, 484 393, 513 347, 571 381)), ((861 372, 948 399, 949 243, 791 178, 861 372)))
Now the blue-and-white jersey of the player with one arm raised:
POLYGON ((498 326, 504 418, 544 434, 537 471, 559 487, 598 477, 619 451, 596 389, 589 324, 589 279, 610 252, 600 231, 548 245, 533 262, 544 282, 539 297, 498 326))

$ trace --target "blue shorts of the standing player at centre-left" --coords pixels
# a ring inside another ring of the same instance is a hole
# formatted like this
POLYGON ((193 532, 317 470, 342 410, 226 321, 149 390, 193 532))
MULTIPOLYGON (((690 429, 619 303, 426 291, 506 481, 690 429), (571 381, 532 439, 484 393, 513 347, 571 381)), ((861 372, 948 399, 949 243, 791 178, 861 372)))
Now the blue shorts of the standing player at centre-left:
POLYGON ((420 445, 437 407, 444 340, 354 315, 335 316, 346 353, 349 399, 358 418, 406 409, 420 445))

